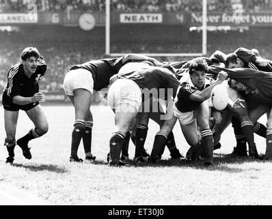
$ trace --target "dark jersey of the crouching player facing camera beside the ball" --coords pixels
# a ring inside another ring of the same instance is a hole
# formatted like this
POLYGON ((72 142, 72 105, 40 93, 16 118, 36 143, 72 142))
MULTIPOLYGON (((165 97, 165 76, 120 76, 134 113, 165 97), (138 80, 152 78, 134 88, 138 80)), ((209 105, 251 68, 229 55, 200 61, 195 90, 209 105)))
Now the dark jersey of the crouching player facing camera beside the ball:
MULTIPOLYGON (((210 86, 210 84, 212 84, 213 82, 214 82, 213 79, 206 77, 205 85, 202 90, 208 88, 208 86, 210 86)), ((178 92, 174 100, 178 111, 191 112, 202 103, 199 101, 192 101, 190 99, 190 95, 197 90, 198 88, 195 88, 195 86, 193 86, 193 83, 189 75, 185 76, 180 80, 180 86, 178 86, 178 92)))

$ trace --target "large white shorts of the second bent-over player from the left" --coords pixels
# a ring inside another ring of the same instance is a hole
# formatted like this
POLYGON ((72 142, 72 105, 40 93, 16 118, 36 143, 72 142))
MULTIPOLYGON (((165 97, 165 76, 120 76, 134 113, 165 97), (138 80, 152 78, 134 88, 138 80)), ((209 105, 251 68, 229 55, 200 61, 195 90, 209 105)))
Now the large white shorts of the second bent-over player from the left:
MULTIPOLYGON (((108 103, 113 110, 128 104, 138 111, 141 106, 141 89, 133 80, 118 79, 109 88, 108 103)), ((126 109, 122 110, 125 112, 126 109)))

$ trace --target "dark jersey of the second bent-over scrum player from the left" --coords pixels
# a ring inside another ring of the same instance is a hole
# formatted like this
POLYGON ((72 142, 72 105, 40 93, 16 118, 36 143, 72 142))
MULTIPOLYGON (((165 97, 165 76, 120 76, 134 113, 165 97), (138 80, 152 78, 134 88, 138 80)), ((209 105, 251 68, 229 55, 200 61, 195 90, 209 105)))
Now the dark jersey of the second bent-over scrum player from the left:
MULTIPOLYGON (((179 81, 167 68, 149 66, 147 68, 137 69, 133 72, 118 74, 118 79, 131 79, 137 83, 139 88, 151 90, 156 89, 160 92, 160 88, 166 89, 164 96, 159 96, 162 99, 167 99, 167 95, 176 96, 179 81), (169 90, 167 89, 169 88, 169 90), (171 93, 167 92, 171 90, 171 93)), ((161 94, 161 93, 158 93, 161 94)))

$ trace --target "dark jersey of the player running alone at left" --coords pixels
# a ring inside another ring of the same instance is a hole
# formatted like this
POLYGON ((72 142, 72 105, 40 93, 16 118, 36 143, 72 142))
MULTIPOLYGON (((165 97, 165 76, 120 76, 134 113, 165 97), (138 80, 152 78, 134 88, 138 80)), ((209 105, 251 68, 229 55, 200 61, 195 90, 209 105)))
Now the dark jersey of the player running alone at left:
POLYGON ((39 92, 38 81, 46 72, 46 62, 42 58, 38 60, 36 72, 27 77, 23 70, 23 64, 15 64, 8 71, 8 83, 3 92, 3 105, 12 105, 14 96, 30 97, 39 92))

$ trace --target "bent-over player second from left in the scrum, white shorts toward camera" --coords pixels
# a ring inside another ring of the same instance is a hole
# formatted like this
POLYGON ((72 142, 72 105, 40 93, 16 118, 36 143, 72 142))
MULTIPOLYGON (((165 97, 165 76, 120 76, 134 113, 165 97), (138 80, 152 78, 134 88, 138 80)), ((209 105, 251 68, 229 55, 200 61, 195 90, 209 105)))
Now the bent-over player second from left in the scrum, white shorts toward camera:
MULTIPOLYGON (((171 97, 176 94, 179 82, 172 71, 154 66, 118 73, 111 81, 113 83, 109 88, 108 99, 109 105, 115 111, 115 131, 109 144, 109 165, 117 165, 126 133, 129 127, 135 123, 139 112, 142 96, 143 100, 149 99, 150 95, 157 96, 157 98, 165 99, 170 105, 171 97), (165 95, 160 96, 160 90, 163 90, 165 95)), ((167 109, 171 111, 172 107, 167 107, 167 109)), ((165 116, 167 125, 157 133, 154 140, 151 153, 152 162, 161 151, 161 145, 165 146, 167 136, 176 123, 176 118, 173 118, 171 112, 168 113, 169 118, 165 116)))

